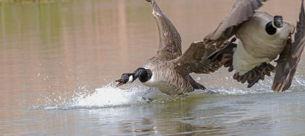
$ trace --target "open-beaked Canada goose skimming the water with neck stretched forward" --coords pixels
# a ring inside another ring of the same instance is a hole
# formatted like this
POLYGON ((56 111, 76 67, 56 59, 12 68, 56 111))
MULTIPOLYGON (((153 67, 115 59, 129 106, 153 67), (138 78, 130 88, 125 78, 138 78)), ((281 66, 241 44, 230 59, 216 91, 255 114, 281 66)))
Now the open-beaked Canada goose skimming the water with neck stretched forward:
POLYGON ((204 90, 205 87, 196 83, 189 74, 210 73, 219 69, 219 62, 209 64, 206 59, 216 48, 205 48, 203 42, 193 42, 181 56, 181 38, 175 26, 161 12, 154 0, 146 1, 153 5, 153 15, 158 26, 160 42, 157 55, 148 59, 143 68, 122 74, 120 79, 115 80, 118 82, 116 87, 132 83, 139 78, 144 86, 155 87, 168 95, 180 95, 194 89, 204 90))

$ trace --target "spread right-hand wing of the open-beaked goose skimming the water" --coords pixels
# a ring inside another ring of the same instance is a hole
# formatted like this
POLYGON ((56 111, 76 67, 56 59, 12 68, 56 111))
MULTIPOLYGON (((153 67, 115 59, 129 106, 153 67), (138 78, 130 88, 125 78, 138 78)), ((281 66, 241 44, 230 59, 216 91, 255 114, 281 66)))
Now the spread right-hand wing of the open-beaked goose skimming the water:
POLYGON ((175 69, 181 75, 214 72, 222 66, 219 62, 209 64, 206 59, 214 51, 214 46, 206 48, 203 42, 193 42, 180 58, 174 60, 175 69))

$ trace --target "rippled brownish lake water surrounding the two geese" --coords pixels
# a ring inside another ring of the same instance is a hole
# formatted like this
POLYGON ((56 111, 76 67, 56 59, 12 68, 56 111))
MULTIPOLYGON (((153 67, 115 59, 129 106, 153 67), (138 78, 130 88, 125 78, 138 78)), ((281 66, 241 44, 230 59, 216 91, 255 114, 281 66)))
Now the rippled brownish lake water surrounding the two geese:
MULTIPOLYGON (((202 40, 233 0, 157 1, 182 38, 202 40)), ((296 24, 299 0, 260 9, 296 24)), ((0 135, 305 135, 305 66, 274 93, 267 77, 252 88, 221 68, 192 74, 207 90, 166 96, 139 81, 115 87, 156 54, 159 35, 144 0, 0 4, 0 135), (209 94, 209 92, 215 92, 209 94)))

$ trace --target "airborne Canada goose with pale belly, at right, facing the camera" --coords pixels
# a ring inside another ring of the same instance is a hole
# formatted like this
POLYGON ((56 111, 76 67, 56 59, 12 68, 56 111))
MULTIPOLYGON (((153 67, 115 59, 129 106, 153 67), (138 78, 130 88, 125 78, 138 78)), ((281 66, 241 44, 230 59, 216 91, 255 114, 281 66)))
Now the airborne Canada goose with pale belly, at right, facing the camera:
POLYGON ((233 78, 241 83, 248 82, 252 87, 265 75, 275 72, 272 90, 283 92, 291 86, 292 78, 304 47, 305 14, 303 0, 297 22, 294 42, 291 35, 295 27, 283 22, 282 16, 271 16, 266 12, 255 12, 266 0, 236 0, 229 15, 222 20, 214 32, 204 38, 207 47, 216 44, 222 48, 212 53, 207 59, 220 62, 235 70, 233 78), (235 44, 235 35, 240 41, 235 44), (269 64, 280 55, 277 66, 269 64))

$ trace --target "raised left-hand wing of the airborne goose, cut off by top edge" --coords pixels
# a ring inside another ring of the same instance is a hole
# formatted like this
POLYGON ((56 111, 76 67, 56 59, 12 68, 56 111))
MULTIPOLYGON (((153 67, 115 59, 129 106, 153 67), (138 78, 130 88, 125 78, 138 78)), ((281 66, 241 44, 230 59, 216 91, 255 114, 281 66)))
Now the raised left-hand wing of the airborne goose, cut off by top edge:
POLYGON ((223 46, 223 43, 235 34, 239 24, 252 17, 255 10, 265 1, 267 0, 236 0, 229 15, 221 21, 215 31, 204 38, 205 45, 216 43, 216 48, 223 46))

